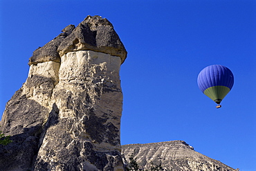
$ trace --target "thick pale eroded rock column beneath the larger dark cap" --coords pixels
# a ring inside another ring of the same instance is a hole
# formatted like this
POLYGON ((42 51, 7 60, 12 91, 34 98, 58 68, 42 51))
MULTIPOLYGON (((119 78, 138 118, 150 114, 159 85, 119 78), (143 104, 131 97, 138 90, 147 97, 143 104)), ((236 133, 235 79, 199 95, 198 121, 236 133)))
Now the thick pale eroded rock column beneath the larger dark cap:
POLYGON ((122 170, 120 57, 80 50, 61 59, 36 170, 122 170))

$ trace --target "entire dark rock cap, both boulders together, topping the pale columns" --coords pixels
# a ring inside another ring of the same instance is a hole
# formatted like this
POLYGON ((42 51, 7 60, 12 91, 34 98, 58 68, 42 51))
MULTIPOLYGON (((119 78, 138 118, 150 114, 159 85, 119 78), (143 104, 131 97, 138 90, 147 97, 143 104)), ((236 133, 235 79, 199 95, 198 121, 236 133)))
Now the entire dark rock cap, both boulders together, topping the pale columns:
POLYGON ((67 26, 59 36, 35 50, 28 64, 60 62, 60 57, 64 54, 77 50, 111 54, 120 57, 122 63, 127 57, 125 46, 113 29, 113 25, 100 16, 89 15, 76 28, 73 25, 67 26))

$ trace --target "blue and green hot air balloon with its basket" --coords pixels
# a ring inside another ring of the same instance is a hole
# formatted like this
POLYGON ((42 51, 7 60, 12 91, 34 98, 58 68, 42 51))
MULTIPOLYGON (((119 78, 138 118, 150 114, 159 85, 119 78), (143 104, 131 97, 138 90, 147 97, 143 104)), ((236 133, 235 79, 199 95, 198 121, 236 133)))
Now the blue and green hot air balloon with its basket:
POLYGON ((226 66, 212 65, 203 68, 197 77, 199 89, 221 108, 221 101, 230 92, 234 84, 234 76, 226 66))

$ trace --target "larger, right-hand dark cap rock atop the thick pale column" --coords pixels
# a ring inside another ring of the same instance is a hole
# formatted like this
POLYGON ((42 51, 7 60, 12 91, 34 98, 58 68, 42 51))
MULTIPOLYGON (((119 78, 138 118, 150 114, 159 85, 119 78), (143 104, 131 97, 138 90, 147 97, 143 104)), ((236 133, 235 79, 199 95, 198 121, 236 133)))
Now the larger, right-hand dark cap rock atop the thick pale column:
POLYGON ((57 49, 60 56, 77 50, 93 50, 118 56, 122 63, 127 57, 125 46, 113 25, 100 16, 86 17, 57 49))

